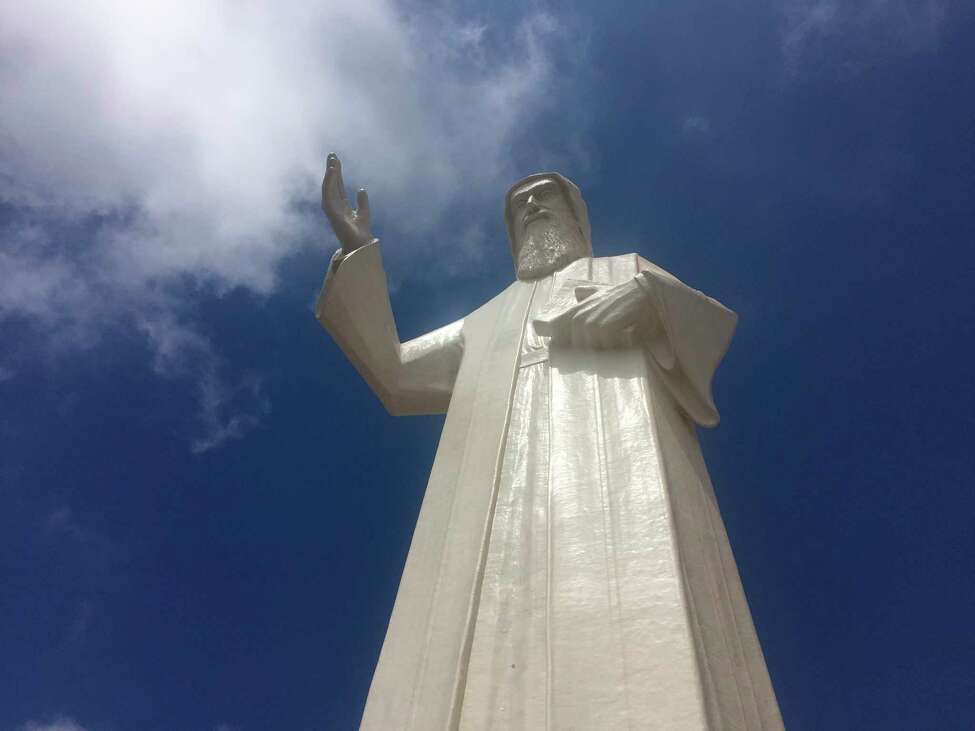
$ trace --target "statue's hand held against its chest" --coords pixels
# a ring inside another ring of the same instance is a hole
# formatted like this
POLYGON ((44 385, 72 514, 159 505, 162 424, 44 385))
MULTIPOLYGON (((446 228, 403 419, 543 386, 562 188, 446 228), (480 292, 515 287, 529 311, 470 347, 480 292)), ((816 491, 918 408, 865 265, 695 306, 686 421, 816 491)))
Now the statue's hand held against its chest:
POLYGON ((552 322, 552 343, 593 350, 627 347, 636 331, 655 326, 648 299, 635 279, 596 290, 552 322))

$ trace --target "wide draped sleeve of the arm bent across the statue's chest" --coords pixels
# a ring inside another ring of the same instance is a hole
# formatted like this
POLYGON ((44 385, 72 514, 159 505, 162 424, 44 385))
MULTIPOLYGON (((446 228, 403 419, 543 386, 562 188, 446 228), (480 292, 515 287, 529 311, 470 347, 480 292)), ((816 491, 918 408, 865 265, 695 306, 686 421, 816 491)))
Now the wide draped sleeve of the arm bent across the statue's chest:
POLYGON ((637 282, 659 319, 660 327, 649 337, 647 349, 664 383, 696 423, 717 425, 711 380, 731 343, 738 316, 643 258, 637 282))

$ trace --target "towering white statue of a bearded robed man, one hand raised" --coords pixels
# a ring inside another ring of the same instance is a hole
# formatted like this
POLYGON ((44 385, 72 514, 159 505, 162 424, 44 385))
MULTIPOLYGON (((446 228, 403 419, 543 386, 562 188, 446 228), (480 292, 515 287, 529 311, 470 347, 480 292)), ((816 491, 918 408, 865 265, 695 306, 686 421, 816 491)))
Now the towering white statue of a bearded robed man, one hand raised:
POLYGON ((695 433, 735 314, 594 258, 541 173, 505 197, 517 280, 400 343, 335 155, 322 207, 319 321, 391 414, 447 413, 362 728, 782 728, 695 433))

